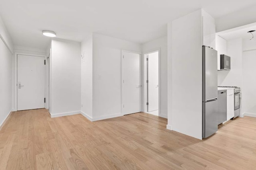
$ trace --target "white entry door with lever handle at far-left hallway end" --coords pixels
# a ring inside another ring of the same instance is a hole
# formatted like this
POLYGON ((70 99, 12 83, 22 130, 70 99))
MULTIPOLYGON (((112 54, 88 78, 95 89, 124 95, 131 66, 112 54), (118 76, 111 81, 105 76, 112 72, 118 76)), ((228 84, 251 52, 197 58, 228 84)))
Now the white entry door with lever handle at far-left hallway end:
POLYGON ((17 110, 45 108, 44 57, 17 55, 17 110))

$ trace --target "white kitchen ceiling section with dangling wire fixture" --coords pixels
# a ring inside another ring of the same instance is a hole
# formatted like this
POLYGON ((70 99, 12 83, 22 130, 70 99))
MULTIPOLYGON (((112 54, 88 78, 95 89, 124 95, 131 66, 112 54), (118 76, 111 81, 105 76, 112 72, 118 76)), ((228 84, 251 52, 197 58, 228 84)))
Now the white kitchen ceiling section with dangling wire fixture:
POLYGON ((254 35, 254 39, 256 39, 256 31, 251 33, 247 33, 248 31, 251 30, 256 30, 256 25, 252 26, 252 27, 245 27, 245 28, 241 28, 238 30, 234 30, 234 31, 230 31, 230 32, 226 32, 226 33, 220 33, 219 36, 229 40, 229 39, 237 39, 237 38, 242 38, 242 39, 251 39, 252 38, 252 34, 254 35))

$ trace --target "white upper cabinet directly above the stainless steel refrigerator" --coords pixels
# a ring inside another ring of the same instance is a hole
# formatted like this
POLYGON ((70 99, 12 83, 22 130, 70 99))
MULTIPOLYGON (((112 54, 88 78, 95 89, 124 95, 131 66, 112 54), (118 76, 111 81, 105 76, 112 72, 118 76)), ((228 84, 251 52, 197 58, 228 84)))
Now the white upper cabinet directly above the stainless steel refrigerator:
POLYGON ((202 10, 203 45, 216 48, 215 42, 215 20, 207 12, 202 10))

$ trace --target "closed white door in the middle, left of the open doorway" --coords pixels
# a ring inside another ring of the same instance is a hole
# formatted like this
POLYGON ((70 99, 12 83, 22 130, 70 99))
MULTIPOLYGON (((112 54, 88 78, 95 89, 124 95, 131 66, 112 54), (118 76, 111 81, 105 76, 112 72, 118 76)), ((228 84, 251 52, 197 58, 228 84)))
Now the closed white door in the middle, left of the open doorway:
POLYGON ((140 54, 123 52, 122 56, 122 113, 141 111, 141 60, 140 54))

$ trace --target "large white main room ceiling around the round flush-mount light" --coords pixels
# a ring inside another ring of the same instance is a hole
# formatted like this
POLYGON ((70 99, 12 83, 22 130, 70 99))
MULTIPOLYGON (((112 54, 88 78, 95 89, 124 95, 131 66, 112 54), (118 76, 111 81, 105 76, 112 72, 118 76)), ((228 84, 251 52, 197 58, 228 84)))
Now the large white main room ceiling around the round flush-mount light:
MULTIPOLYGON (((255 0, 1 0, 0 16, 14 45, 46 48, 58 38, 82 41, 88 32, 145 43, 167 34, 167 23, 203 8, 214 18, 256 4, 255 0)), ((186 25, 184 25, 186 26, 186 25)))

